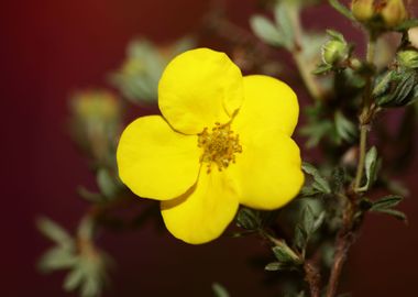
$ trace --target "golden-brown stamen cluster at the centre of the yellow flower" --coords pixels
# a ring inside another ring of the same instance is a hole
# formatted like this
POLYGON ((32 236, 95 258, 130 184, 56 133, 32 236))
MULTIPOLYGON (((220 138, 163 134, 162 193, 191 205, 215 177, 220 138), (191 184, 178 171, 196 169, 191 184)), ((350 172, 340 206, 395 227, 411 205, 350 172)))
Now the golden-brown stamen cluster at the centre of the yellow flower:
POLYGON ((230 123, 216 123, 211 131, 205 128, 198 135, 198 146, 204 150, 200 162, 208 164, 207 173, 211 172, 213 163, 221 172, 231 162, 235 163, 235 153, 242 153, 239 135, 231 131, 230 123))

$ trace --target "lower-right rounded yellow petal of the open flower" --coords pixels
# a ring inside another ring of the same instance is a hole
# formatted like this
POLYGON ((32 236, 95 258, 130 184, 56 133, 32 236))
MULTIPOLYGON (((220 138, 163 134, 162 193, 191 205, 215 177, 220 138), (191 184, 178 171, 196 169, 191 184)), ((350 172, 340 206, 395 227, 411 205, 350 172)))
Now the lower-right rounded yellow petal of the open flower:
POLYGON ((260 130, 242 140, 242 153, 228 168, 240 188, 244 206, 273 210, 300 190, 304 174, 296 143, 279 130, 260 130))

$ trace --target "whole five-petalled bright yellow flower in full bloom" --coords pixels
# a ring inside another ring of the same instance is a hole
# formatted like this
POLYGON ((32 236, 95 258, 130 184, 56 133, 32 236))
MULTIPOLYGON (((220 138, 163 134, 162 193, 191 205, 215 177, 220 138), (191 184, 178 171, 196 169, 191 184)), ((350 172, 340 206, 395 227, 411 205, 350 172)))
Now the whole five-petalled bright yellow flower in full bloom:
POLYGON ((138 196, 161 200, 167 229, 199 244, 218 238, 239 205, 272 210, 300 190, 299 148, 290 139, 298 102, 284 82, 242 77, 223 53, 188 51, 158 86, 163 117, 123 132, 119 175, 138 196))

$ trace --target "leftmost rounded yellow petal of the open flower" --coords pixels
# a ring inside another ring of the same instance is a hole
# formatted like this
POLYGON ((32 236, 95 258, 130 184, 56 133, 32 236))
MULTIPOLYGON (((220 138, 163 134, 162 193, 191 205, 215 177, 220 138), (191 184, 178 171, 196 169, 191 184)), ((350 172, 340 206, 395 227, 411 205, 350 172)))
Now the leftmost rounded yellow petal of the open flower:
POLYGON ((143 117, 122 133, 119 176, 140 197, 173 199, 196 183, 199 156, 197 136, 174 131, 160 116, 143 117))

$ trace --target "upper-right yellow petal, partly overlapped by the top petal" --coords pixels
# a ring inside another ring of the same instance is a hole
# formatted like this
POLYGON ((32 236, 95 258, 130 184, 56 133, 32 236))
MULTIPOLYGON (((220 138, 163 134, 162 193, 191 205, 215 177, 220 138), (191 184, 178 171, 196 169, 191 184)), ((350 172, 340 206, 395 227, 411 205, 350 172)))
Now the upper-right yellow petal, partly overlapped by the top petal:
POLYGON ((271 127, 292 135, 297 124, 299 105, 290 87, 262 75, 245 76, 243 81, 245 99, 232 122, 232 129, 245 129, 253 133, 271 127))

